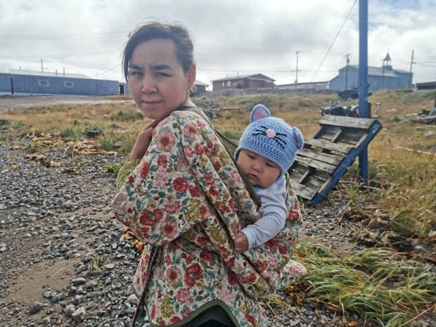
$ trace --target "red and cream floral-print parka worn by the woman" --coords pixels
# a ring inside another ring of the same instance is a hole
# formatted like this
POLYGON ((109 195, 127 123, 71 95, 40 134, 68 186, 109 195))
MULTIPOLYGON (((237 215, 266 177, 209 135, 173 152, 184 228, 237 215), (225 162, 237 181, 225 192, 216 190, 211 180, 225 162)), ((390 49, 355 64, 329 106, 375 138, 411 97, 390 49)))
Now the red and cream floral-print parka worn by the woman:
POLYGON ((134 289, 141 295, 147 285, 144 308, 151 326, 187 326, 214 305, 236 326, 268 326, 257 297, 307 274, 292 260, 302 218, 288 186, 283 231, 238 253, 233 237, 259 214, 229 153, 193 110, 174 111, 158 124, 113 200, 116 219, 146 243, 134 289), (153 247, 159 255, 150 262, 153 247))

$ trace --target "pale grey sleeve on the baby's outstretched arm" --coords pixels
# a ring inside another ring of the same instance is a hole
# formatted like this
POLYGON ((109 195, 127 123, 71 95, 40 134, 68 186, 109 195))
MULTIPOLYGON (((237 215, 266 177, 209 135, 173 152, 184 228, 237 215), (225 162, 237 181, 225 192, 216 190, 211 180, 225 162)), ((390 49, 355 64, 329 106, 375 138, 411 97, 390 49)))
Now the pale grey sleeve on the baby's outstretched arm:
POLYGON ((274 238, 285 226, 288 210, 286 209, 286 184, 281 177, 268 188, 260 189, 260 214, 254 224, 246 226, 242 232, 247 236, 248 248, 254 248, 274 238))

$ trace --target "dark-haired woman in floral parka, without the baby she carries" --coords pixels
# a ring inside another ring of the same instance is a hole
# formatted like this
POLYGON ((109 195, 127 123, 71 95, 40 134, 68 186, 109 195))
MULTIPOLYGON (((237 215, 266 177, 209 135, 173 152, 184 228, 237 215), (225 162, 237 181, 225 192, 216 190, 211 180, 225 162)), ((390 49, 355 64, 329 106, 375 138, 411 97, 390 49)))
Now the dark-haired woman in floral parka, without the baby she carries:
POLYGON ((153 120, 130 153, 141 160, 113 200, 146 243, 134 277, 151 326, 267 326, 257 300, 306 274, 290 261, 300 210, 290 188, 286 229, 240 254, 233 238, 259 217, 248 188, 189 90, 193 44, 180 25, 146 23, 124 49, 124 77, 153 120), (153 134, 153 136, 152 136, 153 134))

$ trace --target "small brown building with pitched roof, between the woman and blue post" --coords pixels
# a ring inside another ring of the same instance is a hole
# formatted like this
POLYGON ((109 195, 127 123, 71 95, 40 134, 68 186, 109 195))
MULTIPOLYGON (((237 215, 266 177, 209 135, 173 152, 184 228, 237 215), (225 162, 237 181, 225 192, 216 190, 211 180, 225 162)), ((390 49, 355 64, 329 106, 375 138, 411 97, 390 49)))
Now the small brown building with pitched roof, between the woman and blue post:
POLYGON ((224 89, 274 89, 274 80, 263 74, 241 75, 235 77, 225 77, 212 81, 212 90, 224 89))

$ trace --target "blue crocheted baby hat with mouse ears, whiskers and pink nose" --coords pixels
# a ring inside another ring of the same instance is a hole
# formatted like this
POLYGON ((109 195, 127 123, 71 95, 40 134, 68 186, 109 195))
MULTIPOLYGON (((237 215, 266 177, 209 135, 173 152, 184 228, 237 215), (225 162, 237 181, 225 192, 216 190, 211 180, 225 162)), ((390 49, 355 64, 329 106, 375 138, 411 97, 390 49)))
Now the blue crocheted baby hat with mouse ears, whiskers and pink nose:
POLYGON ((292 166, 297 150, 303 147, 304 139, 297 127, 290 127, 284 120, 271 117, 264 105, 258 104, 250 113, 250 124, 245 129, 235 152, 249 150, 275 162, 285 174, 292 166))

